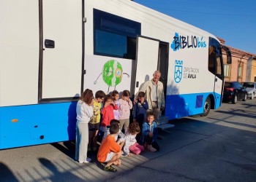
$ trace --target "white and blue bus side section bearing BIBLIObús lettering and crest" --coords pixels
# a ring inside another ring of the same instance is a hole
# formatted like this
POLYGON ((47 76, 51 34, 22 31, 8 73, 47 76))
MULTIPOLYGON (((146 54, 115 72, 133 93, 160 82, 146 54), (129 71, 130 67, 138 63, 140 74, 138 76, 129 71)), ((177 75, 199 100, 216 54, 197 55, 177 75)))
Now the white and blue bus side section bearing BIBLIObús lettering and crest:
POLYGON ((202 114, 208 96, 217 108, 221 95, 208 70, 208 36, 184 29, 172 35, 165 114, 169 119, 202 114))

